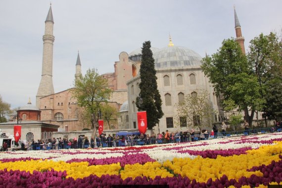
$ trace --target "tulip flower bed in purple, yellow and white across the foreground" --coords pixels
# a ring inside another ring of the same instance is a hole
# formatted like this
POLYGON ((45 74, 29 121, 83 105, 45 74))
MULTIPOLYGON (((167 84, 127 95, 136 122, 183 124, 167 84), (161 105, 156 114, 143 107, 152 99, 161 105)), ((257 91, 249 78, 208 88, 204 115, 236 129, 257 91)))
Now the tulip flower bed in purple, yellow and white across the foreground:
POLYGON ((190 143, 0 152, 0 187, 281 185, 282 133, 190 143))

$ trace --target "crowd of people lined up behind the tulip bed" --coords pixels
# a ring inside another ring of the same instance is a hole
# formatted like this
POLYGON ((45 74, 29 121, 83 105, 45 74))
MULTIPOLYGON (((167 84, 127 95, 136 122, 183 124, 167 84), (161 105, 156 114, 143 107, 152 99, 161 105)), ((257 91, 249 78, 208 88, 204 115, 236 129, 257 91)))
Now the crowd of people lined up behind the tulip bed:
MULTIPOLYGON (((249 134, 249 124, 244 121, 244 129, 247 134, 249 134)), ((218 134, 221 133, 222 136, 226 136, 227 125, 222 122, 219 132, 218 127, 214 125, 210 131, 202 129, 195 132, 194 129, 187 131, 176 131, 161 132, 155 134, 152 132, 151 135, 143 134, 127 134, 127 135, 112 135, 106 136, 105 133, 97 135, 90 140, 88 137, 79 136, 73 139, 67 138, 53 138, 48 139, 47 142, 43 140, 32 141, 31 143, 25 142, 21 143, 21 150, 59 150, 59 149, 83 149, 83 148, 99 148, 99 147, 120 147, 120 146, 135 146, 135 145, 150 145, 150 144, 166 144, 166 143, 180 143, 180 142, 193 142, 197 140, 207 140, 208 138, 217 138, 218 134)), ((273 131, 277 131, 282 128, 282 122, 277 122, 273 131)), ((5 147, 5 146, 4 146, 5 147)))

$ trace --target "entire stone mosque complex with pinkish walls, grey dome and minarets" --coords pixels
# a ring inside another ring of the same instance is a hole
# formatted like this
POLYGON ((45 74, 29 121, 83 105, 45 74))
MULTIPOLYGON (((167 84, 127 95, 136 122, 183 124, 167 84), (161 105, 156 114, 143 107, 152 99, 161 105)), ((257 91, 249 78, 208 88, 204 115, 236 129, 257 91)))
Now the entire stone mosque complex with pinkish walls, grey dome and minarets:
MULTIPOLYGON (((53 26, 54 20, 51 6, 45 21, 45 34, 43 36, 43 63, 42 78, 36 95, 36 107, 41 111, 41 121, 58 125, 65 131, 81 130, 84 127, 78 117, 79 107, 71 90, 67 89, 54 93, 52 81, 53 60, 53 26)), ((244 51, 244 38, 241 35, 239 21, 235 12, 236 40, 244 51)), ((218 99, 210 86, 209 80, 203 74, 200 65, 202 57, 195 51, 186 47, 176 46, 169 38, 169 44, 164 48, 151 48, 155 59, 157 71, 157 84, 162 98, 164 116, 160 119, 159 130, 187 130, 187 125, 177 126, 177 109, 175 104, 184 100, 187 94, 197 94, 198 90, 206 90, 213 108, 218 112, 214 114, 214 121, 220 121, 224 116, 218 99)), ((102 76, 108 79, 109 87, 113 90, 110 102, 119 112, 116 123, 111 129, 138 129, 136 97, 139 95, 141 48, 131 53, 121 52, 119 61, 114 63, 114 72, 102 76)), ((75 78, 81 75, 81 61, 78 54, 76 61, 75 78)), ((109 128, 109 127, 108 127, 109 128)), ((107 129, 107 127, 105 127, 107 129)))

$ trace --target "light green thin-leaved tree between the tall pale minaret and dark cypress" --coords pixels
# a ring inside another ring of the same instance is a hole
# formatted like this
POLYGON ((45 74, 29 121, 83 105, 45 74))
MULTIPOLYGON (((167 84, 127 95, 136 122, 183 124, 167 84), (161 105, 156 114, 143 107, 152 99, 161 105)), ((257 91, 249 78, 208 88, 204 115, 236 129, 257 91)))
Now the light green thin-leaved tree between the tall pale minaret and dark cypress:
POLYGON ((107 79, 97 73, 95 69, 89 69, 85 76, 75 80, 73 97, 77 99, 80 107, 85 108, 91 115, 92 137, 95 138, 98 128, 99 112, 107 103, 112 91, 108 88, 107 79))

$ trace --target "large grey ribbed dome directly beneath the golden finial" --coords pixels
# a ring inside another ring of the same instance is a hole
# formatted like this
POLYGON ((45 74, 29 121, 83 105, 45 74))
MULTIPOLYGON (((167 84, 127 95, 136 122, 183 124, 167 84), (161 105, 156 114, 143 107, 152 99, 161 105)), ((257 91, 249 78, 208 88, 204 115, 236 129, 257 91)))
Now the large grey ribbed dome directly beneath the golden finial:
POLYGON ((202 57, 191 49, 168 46, 153 54, 155 68, 200 66, 202 57))

